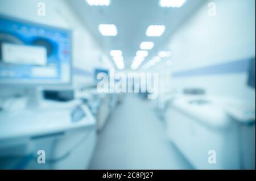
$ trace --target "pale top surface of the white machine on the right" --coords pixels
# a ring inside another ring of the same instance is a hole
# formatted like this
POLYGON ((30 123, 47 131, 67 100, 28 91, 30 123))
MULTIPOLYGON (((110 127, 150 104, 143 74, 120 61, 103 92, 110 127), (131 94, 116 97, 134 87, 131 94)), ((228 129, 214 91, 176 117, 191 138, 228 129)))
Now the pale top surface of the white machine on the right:
MULTIPOLYGON (((233 120, 243 123, 251 120, 255 121, 255 114, 254 117, 239 117, 233 114, 235 112, 241 115, 241 108, 234 109, 234 105, 244 107, 243 104, 246 103, 239 100, 218 98, 214 96, 180 96, 171 103, 170 107, 174 107, 189 116, 193 116, 195 119, 200 120, 201 123, 207 124, 212 128, 226 128, 230 121, 233 120), (206 101, 208 103, 197 104, 197 100, 206 101), (232 109, 233 112, 229 111, 230 109, 232 109), (233 117, 233 119, 231 119, 230 116, 233 117)), ((255 112, 255 106, 254 108, 253 106, 249 107, 252 107, 255 112)))

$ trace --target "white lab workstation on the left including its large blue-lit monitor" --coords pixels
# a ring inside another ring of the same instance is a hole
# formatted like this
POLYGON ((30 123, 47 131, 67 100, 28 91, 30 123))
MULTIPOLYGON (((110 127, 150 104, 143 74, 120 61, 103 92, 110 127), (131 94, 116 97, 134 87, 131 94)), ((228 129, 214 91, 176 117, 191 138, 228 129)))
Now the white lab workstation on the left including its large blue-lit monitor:
POLYGON ((0 16, 1 169, 88 168, 96 146, 92 113, 80 100, 42 98, 45 87, 71 86, 71 36, 63 28, 0 16))

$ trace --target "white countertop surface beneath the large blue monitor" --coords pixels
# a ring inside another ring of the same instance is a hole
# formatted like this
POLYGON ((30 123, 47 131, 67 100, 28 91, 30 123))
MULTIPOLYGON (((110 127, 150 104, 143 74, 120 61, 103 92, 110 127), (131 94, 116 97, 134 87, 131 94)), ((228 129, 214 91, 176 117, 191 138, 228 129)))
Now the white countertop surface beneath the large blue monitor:
POLYGON ((86 116, 80 121, 71 121, 71 112, 77 103, 44 102, 42 108, 37 110, 0 112, 0 141, 92 127, 96 121, 84 105, 82 109, 86 116))

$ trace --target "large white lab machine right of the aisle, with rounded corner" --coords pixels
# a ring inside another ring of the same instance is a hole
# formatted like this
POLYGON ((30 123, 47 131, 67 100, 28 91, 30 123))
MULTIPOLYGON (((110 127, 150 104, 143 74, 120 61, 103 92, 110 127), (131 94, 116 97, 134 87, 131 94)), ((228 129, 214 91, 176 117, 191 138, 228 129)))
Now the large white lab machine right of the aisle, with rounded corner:
POLYGON ((255 105, 251 105, 254 116, 252 112, 241 124, 226 111, 229 104, 209 96, 180 96, 169 103, 168 137, 195 169, 255 168, 255 105), (250 142, 246 149, 245 141, 250 142), (209 161, 212 154, 214 162, 209 161))

